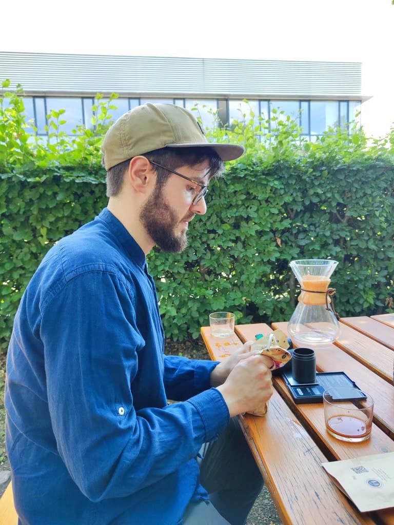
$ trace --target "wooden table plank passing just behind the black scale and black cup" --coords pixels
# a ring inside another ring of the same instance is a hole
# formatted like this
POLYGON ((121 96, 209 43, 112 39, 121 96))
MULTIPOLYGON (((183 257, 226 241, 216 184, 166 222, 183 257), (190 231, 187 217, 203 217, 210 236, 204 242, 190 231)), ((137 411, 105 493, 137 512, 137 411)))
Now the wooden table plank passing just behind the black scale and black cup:
MULTIPOLYGON (((287 322, 273 323, 287 334, 287 322)), ((308 345, 315 350, 319 372, 345 372, 361 388, 374 395, 374 423, 394 437, 394 386, 382 379, 335 344, 308 345)))

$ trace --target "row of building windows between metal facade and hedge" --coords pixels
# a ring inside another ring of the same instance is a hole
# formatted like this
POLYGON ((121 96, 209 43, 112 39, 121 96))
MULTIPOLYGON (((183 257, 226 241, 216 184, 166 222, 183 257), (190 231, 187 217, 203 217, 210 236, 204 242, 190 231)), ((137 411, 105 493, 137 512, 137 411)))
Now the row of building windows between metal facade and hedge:
MULTIPOLYGON (((100 99, 107 102, 108 99, 100 99)), ((356 120, 359 124, 358 114, 361 110, 360 100, 244 100, 237 99, 140 99, 140 98, 117 98, 111 101, 111 106, 116 109, 108 110, 110 120, 117 120, 123 113, 146 102, 153 103, 175 103, 192 111, 199 117, 203 127, 214 128, 217 124, 232 125, 235 120, 250 120, 251 112, 254 113, 254 125, 259 135, 264 134, 264 129, 258 131, 259 116, 263 121, 268 121, 271 130, 277 127, 277 120, 272 120, 276 110, 278 119, 286 119, 289 116, 295 120, 301 128, 302 134, 314 140, 322 135, 329 127, 340 128, 351 132, 352 125, 349 122, 356 120), (283 113, 281 114, 281 111, 283 113)), ((26 131, 33 133, 32 125, 37 128, 37 134, 46 135, 46 115, 51 110, 65 109, 60 117, 66 120, 61 130, 72 135, 78 124, 85 124, 92 128, 92 104, 97 100, 90 97, 24 97, 26 131)), ((7 107, 9 101, 3 99, 3 106, 7 107)), ((52 132, 54 130, 50 130, 52 132)), ((263 138, 263 137, 261 137, 263 138)))

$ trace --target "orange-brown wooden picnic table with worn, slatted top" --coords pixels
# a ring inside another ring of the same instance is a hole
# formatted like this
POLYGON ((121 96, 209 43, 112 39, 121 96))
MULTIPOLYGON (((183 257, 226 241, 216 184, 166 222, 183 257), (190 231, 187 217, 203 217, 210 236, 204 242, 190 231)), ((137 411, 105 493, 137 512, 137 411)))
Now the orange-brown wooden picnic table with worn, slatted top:
MULTIPOLYGON (((273 375, 274 394, 263 417, 244 414, 239 421, 284 525, 394 525, 393 507, 359 512, 322 467, 325 461, 394 451, 394 314, 340 319, 334 344, 309 345, 318 372, 345 372, 375 401, 371 437, 347 443, 330 436, 322 403, 295 404, 281 375, 273 375)), ((287 322, 237 325, 230 338, 201 329, 211 359, 222 361, 258 333, 287 322)), ((294 346, 297 346, 294 344, 294 346)))

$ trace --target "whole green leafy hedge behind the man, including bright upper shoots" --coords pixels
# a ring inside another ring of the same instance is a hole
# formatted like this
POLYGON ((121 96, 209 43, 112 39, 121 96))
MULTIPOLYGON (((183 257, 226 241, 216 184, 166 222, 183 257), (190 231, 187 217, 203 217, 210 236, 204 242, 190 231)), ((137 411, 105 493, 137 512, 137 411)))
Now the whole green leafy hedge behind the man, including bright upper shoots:
MULTIPOLYGON (((7 85, 3 82, 3 88, 7 85)), ((99 146, 114 95, 95 108, 95 128, 67 137, 62 110, 48 117, 49 144, 26 131, 22 91, 0 97, 0 343, 20 296, 56 241, 106 205, 99 146)), ((244 115, 209 140, 246 153, 212 181, 208 212, 196 216, 182 254, 148 257, 167 337, 197 337, 212 311, 236 322, 286 320, 298 289, 289 261, 339 261, 332 285, 341 316, 393 311, 394 129, 367 140, 362 129, 329 130, 315 142, 282 113, 244 115)))

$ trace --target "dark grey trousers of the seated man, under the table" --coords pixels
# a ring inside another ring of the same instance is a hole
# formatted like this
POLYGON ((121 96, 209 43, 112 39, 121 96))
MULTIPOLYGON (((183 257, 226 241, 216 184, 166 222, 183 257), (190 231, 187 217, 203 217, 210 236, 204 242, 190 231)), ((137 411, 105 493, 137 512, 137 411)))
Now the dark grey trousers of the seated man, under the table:
POLYGON ((190 503, 182 525, 243 525, 263 488, 263 478, 236 418, 200 454, 201 484, 209 502, 190 503))

